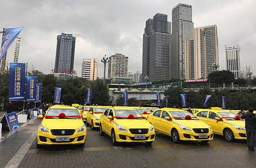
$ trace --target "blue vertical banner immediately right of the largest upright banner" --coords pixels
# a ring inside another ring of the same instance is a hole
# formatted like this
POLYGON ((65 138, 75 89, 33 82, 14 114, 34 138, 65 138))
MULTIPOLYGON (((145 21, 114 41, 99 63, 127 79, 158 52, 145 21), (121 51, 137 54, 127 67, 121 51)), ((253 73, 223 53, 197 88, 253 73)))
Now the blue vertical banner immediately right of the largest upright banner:
POLYGON ((37 77, 27 77, 27 102, 35 102, 37 77))

